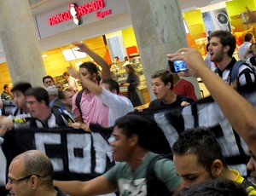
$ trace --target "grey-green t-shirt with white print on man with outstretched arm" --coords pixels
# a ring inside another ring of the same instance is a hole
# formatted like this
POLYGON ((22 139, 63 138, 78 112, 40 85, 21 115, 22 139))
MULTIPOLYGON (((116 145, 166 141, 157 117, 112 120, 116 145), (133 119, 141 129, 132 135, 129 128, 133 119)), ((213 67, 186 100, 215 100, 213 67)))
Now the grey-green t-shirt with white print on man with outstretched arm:
MULTIPOLYGON (((157 154, 147 153, 143 164, 141 164, 135 172, 127 163, 119 163, 111 170, 108 170, 104 176, 108 181, 112 182, 115 187, 118 187, 121 196, 127 195, 147 195, 147 168, 151 159, 157 154)), ((170 159, 160 159, 154 164, 154 171, 161 182, 166 184, 166 187, 172 192, 181 182, 182 179, 177 176, 174 164, 170 159)))

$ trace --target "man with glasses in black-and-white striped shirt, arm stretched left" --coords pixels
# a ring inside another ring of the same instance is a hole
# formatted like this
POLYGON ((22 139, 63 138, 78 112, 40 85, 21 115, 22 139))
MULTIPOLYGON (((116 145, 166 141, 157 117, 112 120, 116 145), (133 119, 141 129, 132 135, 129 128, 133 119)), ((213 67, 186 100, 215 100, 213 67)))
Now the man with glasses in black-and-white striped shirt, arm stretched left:
POLYGON ((32 117, 24 118, 23 115, 1 117, 0 125, 4 125, 7 129, 29 129, 55 128, 73 123, 73 118, 67 110, 49 107, 49 95, 46 89, 30 88, 26 90, 25 96, 26 107, 32 117))

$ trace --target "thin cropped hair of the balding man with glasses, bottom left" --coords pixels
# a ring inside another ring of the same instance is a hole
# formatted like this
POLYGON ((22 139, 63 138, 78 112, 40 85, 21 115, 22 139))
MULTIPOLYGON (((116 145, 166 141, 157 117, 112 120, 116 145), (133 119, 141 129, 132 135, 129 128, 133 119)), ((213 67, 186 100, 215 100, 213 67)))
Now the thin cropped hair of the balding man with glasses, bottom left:
POLYGON ((34 153, 26 153, 24 160, 24 176, 36 175, 42 177, 45 185, 53 186, 53 165, 49 158, 34 153))

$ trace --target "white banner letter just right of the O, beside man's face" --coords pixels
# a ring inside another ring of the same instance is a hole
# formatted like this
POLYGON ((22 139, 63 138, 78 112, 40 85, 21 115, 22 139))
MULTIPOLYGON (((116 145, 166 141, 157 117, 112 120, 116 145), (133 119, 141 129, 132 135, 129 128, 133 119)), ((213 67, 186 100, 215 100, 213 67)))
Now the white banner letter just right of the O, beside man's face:
POLYGON ((113 161, 112 147, 108 144, 101 134, 91 132, 93 138, 93 147, 96 151, 96 173, 102 174, 106 170, 107 156, 113 161))

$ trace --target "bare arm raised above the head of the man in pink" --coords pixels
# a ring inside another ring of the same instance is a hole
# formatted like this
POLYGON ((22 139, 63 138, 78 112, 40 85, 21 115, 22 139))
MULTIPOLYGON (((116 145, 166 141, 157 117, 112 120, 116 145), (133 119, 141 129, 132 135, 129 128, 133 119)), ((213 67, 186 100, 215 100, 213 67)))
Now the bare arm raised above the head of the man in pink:
POLYGON ((90 57, 96 61, 96 63, 102 67, 102 79, 112 79, 110 69, 108 67, 107 61, 105 61, 102 56, 96 54, 94 51, 92 51, 87 45, 84 43, 74 42, 74 45, 79 47, 79 52, 84 52, 87 55, 90 55, 90 57))

